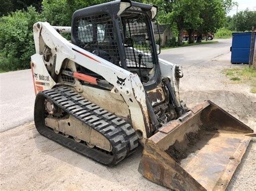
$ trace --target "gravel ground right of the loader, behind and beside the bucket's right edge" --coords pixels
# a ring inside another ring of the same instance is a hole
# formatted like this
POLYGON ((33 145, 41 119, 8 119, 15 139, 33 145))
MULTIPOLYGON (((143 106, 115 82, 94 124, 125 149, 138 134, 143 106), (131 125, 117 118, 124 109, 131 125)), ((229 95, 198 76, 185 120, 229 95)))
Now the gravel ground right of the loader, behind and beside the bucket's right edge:
MULTIPOLYGON (((245 84, 233 84, 220 72, 228 67, 243 67, 231 66, 226 61, 227 58, 230 58, 229 54, 206 62, 204 67, 198 67, 198 73, 190 72, 194 67, 185 66, 184 81, 180 84, 180 97, 188 107, 193 107, 204 100, 211 100, 256 132, 256 95, 250 93, 250 87, 245 84), (206 67, 210 63, 214 63, 214 66, 206 67)), ((252 138, 227 190, 256 190, 255 179, 256 138, 252 138)))

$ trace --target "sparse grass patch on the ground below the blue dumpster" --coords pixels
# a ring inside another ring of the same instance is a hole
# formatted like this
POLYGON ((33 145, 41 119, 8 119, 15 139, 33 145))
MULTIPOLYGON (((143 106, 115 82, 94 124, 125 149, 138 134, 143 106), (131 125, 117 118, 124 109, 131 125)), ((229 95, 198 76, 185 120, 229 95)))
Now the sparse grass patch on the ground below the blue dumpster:
POLYGON ((256 94, 256 69, 248 66, 242 68, 224 69, 224 74, 236 83, 246 83, 251 86, 251 93, 256 94))

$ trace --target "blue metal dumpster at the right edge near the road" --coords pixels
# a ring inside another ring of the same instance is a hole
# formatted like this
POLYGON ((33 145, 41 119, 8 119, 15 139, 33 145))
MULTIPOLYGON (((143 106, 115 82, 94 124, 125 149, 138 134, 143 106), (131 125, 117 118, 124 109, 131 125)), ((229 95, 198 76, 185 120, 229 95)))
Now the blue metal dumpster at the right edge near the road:
POLYGON ((251 32, 232 33, 231 63, 249 63, 251 35, 251 32))

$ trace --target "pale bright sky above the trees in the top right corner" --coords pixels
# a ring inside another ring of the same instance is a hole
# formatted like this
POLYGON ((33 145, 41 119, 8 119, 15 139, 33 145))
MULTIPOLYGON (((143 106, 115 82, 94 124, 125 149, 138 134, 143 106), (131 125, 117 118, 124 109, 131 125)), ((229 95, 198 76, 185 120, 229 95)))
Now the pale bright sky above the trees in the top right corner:
MULTIPOLYGON (((248 8, 250 11, 256 11, 256 0, 233 0, 238 2, 238 12, 244 11, 248 8)), ((237 6, 234 6, 228 13, 228 16, 233 16, 237 13, 237 6)))

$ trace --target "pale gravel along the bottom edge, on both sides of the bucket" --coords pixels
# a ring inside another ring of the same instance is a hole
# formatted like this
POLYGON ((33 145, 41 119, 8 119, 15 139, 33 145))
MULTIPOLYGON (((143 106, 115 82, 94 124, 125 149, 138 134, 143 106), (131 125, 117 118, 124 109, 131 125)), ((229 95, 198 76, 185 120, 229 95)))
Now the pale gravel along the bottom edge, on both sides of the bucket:
MULTIPOLYGON (((1 190, 167 190, 137 171, 142 147, 110 168, 39 135, 33 122, 1 133, 0 143, 1 190)), ((255 190, 255 155, 254 138, 227 190, 255 190)))

